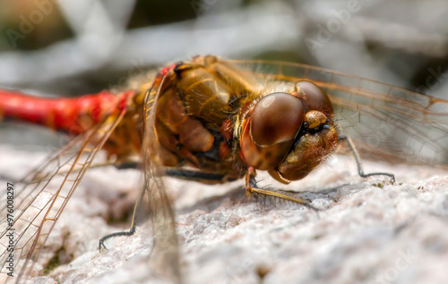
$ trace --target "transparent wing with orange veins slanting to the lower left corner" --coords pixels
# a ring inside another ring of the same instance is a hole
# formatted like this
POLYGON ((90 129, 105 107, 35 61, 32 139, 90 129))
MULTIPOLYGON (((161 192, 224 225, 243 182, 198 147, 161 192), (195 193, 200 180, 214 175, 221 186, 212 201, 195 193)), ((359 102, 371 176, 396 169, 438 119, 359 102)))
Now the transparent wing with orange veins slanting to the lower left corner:
MULTIPOLYGON (((4 218, 6 207, 1 208, 0 278, 19 282, 20 277, 30 274, 33 261, 38 259, 65 205, 124 114, 125 110, 110 116, 96 128, 73 139, 32 171, 29 178, 22 180, 24 187, 14 196, 12 223, 4 218), (13 248, 14 278, 5 274, 9 272, 9 248, 13 248)), ((3 194, 2 198, 5 196, 3 194)), ((1 205, 6 205, 5 200, 1 205)))

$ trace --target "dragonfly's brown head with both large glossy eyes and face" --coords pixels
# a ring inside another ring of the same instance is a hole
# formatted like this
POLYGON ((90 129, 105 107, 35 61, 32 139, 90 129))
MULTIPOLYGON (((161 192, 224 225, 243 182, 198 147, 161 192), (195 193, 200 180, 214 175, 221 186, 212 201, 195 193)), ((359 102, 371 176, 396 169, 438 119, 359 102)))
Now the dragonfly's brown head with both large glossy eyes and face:
POLYGON ((329 97, 310 81, 263 96, 243 117, 241 155, 276 180, 300 180, 335 150, 333 116, 329 97))

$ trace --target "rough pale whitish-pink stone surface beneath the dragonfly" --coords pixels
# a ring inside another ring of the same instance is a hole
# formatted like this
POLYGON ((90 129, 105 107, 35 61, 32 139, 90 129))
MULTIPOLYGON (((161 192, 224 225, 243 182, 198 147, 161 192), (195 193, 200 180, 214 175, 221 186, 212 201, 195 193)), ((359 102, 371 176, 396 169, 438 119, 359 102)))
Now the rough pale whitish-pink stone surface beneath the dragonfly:
MULTIPOLYGON (((17 178, 45 155, 1 146, 0 156, 2 175, 17 178)), ((351 157, 334 155, 287 187, 309 190, 300 196, 319 213, 270 199, 246 202, 242 180, 218 186, 169 180, 185 283, 260 283, 261 277, 263 283, 445 283, 448 171, 373 162, 365 167, 391 171, 397 182, 361 179, 351 157)), ((265 174, 259 179, 278 186, 265 174)), ((91 170, 40 255, 49 259, 57 252, 61 264, 30 283, 164 282, 146 265, 152 242, 146 225, 98 251, 100 237, 128 226, 108 225, 105 218, 116 220, 132 209, 138 180, 132 170, 91 170)))

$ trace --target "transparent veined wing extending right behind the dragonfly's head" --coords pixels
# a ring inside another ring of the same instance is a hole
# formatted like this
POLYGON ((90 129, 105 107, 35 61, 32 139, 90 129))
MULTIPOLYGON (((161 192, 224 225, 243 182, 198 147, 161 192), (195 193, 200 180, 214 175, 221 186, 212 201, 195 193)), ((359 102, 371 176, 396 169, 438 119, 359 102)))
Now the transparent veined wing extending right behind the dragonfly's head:
POLYGON ((448 164, 448 101, 297 63, 235 61, 262 78, 313 80, 330 96, 342 132, 363 158, 448 164))

